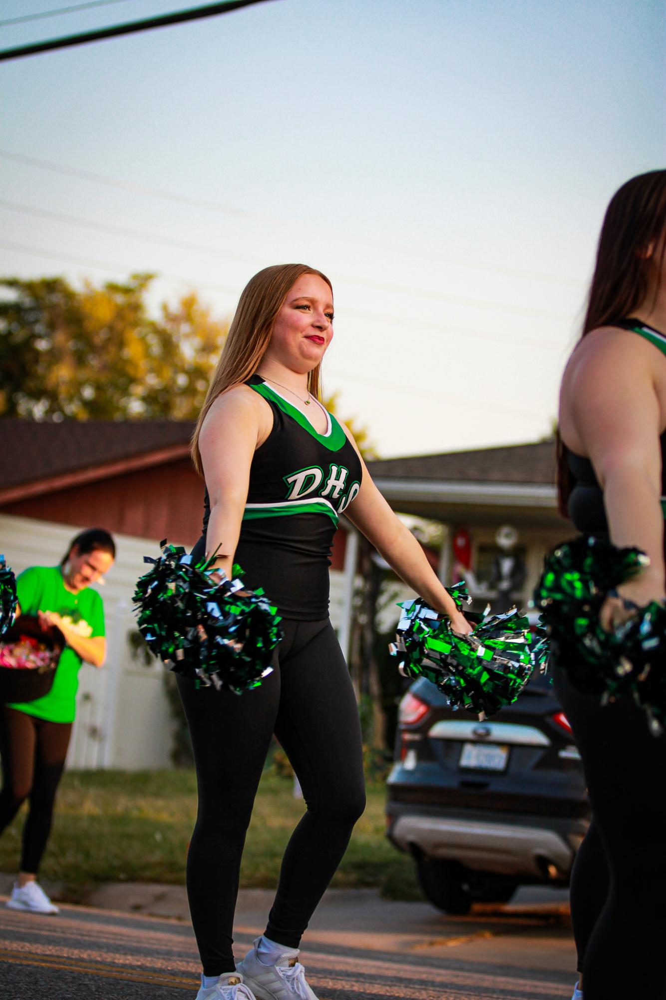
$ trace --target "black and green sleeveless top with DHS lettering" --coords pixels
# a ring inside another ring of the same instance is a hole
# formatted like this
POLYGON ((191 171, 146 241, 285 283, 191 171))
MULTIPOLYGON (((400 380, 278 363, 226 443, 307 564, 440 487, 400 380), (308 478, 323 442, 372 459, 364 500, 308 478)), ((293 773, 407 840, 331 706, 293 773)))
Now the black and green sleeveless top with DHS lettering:
MULTIPOLYGON (((360 460, 333 414, 320 434, 259 375, 247 384, 271 406, 273 430, 253 456, 235 559, 248 587, 263 587, 283 617, 320 621, 329 614, 333 535, 360 489, 360 460)), ((207 490, 197 559, 210 516, 207 490)))

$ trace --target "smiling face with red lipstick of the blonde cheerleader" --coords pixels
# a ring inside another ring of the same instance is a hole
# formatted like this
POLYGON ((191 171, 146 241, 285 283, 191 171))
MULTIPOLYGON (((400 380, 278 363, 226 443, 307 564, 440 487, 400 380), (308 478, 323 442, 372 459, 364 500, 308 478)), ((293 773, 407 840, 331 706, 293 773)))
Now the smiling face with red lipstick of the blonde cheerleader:
POLYGON ((333 292, 318 274, 303 274, 290 288, 266 358, 299 374, 316 368, 333 339, 333 292))

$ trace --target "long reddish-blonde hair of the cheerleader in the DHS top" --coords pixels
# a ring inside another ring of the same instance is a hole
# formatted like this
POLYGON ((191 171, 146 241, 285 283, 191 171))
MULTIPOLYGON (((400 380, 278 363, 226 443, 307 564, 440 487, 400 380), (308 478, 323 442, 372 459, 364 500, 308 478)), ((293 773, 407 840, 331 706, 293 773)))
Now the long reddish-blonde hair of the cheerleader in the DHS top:
MULTIPOLYGON (((233 385, 246 382, 255 374, 269 346, 276 318, 287 293, 304 274, 319 275, 333 294, 333 285, 326 274, 307 264, 274 264, 272 267, 265 267, 243 289, 192 435, 192 461, 200 475, 204 474, 204 469, 199 451, 199 435, 206 414, 220 393, 233 385)), ((317 399, 320 398, 321 367, 322 362, 308 375, 308 389, 317 399)))

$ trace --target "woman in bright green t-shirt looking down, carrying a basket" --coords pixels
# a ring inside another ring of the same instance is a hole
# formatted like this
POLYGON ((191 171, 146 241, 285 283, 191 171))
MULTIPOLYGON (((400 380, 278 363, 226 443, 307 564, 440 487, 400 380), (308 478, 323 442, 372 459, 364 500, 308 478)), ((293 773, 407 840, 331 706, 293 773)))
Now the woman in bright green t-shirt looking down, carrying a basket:
POLYGON ((102 598, 89 584, 113 565, 116 546, 108 531, 90 528, 70 543, 59 566, 31 566, 16 581, 17 613, 56 625, 65 637, 53 687, 35 701, 0 706, 0 833, 29 798, 23 828, 21 867, 7 906, 32 913, 57 913, 37 882, 37 870, 51 830, 56 791, 76 714, 83 660, 101 667, 106 657, 102 598))

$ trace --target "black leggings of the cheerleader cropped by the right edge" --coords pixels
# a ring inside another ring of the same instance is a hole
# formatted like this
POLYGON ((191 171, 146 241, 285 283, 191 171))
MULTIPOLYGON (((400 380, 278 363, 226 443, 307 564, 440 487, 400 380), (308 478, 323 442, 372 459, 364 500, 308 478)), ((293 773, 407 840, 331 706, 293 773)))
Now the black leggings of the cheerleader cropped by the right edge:
POLYGON ((554 669, 583 759, 593 822, 571 877, 585 1000, 666 997, 666 736, 630 696, 601 706, 554 669))

